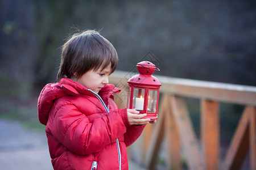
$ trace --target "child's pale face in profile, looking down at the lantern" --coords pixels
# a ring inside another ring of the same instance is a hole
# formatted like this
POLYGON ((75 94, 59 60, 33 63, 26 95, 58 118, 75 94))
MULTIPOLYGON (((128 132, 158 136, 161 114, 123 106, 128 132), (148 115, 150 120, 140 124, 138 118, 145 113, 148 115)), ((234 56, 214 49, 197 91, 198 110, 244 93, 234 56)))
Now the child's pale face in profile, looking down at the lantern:
POLYGON ((102 71, 101 68, 98 70, 90 70, 83 74, 80 78, 74 78, 73 80, 98 94, 101 88, 104 87, 105 84, 109 83, 110 70, 111 65, 102 71))

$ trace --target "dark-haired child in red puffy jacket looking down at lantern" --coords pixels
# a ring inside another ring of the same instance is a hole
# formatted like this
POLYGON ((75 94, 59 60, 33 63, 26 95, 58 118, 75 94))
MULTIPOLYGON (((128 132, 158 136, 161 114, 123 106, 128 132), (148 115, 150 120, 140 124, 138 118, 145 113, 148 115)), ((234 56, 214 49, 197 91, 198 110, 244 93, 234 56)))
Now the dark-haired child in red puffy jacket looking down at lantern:
POLYGON ((63 45, 57 83, 47 84, 38 99, 54 169, 128 169, 126 147, 150 119, 112 100, 121 91, 108 84, 117 63, 113 45, 96 31, 63 45))

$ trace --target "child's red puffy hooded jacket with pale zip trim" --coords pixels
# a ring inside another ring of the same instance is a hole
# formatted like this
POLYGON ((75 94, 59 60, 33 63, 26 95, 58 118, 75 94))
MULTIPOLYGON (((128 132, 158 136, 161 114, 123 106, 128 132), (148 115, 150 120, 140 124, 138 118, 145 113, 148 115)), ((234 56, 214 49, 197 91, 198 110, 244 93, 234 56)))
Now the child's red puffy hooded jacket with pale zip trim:
POLYGON ((144 125, 129 124, 114 92, 119 88, 106 84, 95 94, 68 78, 43 88, 38 117, 46 125, 54 169, 128 169, 126 147, 144 125))

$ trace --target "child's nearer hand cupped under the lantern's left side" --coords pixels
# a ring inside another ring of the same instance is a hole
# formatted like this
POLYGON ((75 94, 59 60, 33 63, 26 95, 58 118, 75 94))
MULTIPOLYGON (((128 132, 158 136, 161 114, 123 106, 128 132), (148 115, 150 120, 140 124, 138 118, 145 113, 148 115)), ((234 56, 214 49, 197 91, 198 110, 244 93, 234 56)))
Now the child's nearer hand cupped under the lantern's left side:
POLYGON ((127 109, 127 117, 130 125, 143 125, 150 122, 150 118, 143 118, 147 116, 146 113, 139 114, 135 109, 127 109))

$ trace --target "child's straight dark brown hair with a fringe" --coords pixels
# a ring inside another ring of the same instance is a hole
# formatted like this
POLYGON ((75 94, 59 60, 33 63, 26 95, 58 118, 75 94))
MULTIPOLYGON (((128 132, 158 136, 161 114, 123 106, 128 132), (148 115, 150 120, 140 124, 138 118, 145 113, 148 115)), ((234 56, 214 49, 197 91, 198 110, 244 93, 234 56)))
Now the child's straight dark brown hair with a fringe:
POLYGON ((62 48, 57 82, 61 78, 80 78, 90 70, 117 68, 118 56, 114 46, 97 31, 88 30, 73 35, 62 48))

